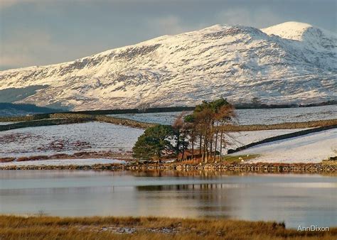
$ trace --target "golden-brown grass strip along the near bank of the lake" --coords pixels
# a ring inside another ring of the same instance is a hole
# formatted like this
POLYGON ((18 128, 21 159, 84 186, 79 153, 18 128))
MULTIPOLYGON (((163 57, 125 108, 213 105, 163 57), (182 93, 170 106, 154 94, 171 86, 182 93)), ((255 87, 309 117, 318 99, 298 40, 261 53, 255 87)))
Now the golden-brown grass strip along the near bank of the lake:
POLYGON ((0 216, 0 239, 337 239, 337 228, 297 231, 225 219, 0 216))

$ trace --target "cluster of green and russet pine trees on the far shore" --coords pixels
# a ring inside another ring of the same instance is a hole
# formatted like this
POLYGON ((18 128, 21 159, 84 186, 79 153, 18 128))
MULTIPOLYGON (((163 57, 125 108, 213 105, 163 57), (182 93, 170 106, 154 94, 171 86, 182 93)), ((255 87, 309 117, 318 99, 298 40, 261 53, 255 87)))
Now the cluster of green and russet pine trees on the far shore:
POLYGON ((172 126, 156 125, 146 129, 134 145, 135 158, 161 159, 163 156, 215 160, 223 155, 226 126, 235 119, 235 109, 226 99, 202 102, 192 114, 181 114, 172 126), (218 149, 219 148, 219 149, 218 149), (180 153, 180 154, 179 154, 180 153))

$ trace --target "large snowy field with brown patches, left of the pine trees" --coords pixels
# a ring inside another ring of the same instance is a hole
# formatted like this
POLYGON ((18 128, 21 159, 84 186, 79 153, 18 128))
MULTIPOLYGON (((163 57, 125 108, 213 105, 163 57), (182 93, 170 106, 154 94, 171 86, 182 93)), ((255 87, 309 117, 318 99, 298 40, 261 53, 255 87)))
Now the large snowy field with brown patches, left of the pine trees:
POLYGON ((141 129, 89 122, 0 132, 0 158, 79 151, 131 151, 141 129))

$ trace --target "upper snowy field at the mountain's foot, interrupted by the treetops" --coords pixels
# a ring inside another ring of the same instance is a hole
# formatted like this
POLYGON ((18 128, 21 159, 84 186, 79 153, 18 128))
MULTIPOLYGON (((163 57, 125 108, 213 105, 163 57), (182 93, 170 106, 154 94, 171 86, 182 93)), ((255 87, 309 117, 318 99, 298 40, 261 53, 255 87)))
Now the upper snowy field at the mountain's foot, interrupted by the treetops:
MULTIPOLYGON (((190 113, 186 111, 186 113, 190 113)), ((151 114, 112 114, 109 116, 155 124, 173 124, 181 112, 151 114)), ((287 109, 237 109, 240 125, 282 124, 284 122, 315 121, 337 118, 337 105, 321 107, 296 107, 287 109)))

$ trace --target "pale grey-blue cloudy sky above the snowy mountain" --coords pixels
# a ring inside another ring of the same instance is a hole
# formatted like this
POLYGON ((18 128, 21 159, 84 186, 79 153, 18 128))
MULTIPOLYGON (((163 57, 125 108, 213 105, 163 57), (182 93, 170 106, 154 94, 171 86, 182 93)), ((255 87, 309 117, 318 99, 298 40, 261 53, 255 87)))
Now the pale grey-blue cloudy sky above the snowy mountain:
POLYGON ((336 32, 337 0, 0 0, 0 70, 75 60, 214 24, 336 32))

